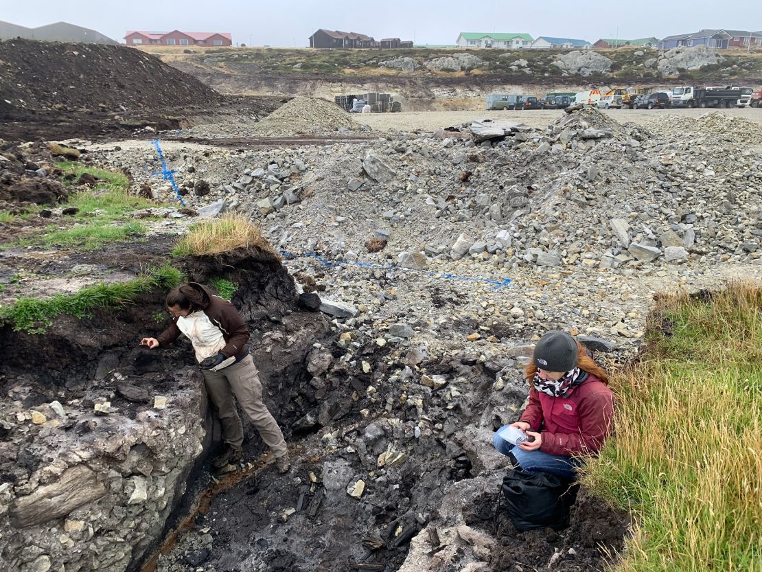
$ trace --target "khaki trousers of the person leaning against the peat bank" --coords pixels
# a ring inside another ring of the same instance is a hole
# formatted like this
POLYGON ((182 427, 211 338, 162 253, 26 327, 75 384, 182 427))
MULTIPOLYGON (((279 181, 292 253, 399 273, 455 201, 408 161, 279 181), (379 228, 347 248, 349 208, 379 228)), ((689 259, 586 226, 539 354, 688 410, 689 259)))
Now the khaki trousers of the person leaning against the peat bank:
POLYGON ((273 451, 273 455, 286 455, 283 433, 262 403, 262 384, 251 355, 221 371, 202 371, 209 398, 216 407, 219 421, 223 424, 223 440, 238 449, 243 445, 243 426, 238 410, 235 409, 235 396, 251 425, 255 426, 264 444, 273 451))

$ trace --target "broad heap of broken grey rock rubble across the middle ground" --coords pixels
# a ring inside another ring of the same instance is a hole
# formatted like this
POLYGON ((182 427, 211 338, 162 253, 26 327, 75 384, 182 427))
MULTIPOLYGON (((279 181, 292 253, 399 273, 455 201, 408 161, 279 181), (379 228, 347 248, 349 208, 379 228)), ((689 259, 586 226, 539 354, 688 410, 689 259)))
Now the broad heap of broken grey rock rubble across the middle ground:
POLYGON ((762 159, 736 143, 664 140, 594 108, 544 132, 486 121, 450 129, 443 139, 196 156, 178 182, 194 188, 203 172, 213 190, 189 194, 192 206, 224 201, 263 218, 278 249, 345 260, 364 257, 375 236, 388 246, 371 260, 406 253, 420 268, 762 262, 762 159))

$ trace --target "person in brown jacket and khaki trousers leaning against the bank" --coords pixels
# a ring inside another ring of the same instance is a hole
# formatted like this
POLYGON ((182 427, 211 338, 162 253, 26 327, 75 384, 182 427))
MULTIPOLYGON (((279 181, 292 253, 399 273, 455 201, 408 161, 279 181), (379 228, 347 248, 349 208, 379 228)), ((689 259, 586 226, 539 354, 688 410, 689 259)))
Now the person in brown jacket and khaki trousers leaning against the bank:
POLYGON ((213 466, 223 468, 241 458, 243 426, 235 407, 238 400, 251 425, 273 451, 277 470, 288 471, 286 442, 262 402, 259 372, 248 352, 248 327, 241 315, 229 301, 214 296, 196 282, 174 288, 167 295, 166 304, 172 315, 171 326, 158 338, 143 338, 140 344, 154 349, 171 344, 181 334, 191 340, 207 392, 223 426, 225 448, 214 459, 213 466))

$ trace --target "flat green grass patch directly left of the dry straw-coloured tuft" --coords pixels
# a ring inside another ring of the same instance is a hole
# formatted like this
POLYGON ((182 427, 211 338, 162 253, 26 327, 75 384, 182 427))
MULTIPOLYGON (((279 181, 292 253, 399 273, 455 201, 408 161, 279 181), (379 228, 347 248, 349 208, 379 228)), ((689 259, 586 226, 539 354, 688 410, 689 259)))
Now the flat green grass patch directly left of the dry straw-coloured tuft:
POLYGON ((142 223, 129 222, 119 226, 98 220, 88 225, 81 224, 65 230, 55 230, 56 228, 51 225, 40 236, 21 239, 13 245, 5 246, 76 246, 82 250, 93 250, 105 243, 134 239, 136 236, 144 235, 147 230, 142 223))

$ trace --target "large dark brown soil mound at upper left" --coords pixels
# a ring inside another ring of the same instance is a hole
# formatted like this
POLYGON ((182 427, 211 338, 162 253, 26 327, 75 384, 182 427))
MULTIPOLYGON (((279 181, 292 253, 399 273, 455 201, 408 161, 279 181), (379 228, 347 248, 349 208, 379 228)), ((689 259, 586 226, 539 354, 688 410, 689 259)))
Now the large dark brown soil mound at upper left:
POLYGON ((0 92, 16 108, 37 110, 199 107, 221 99, 139 50, 33 40, 0 42, 0 92))

